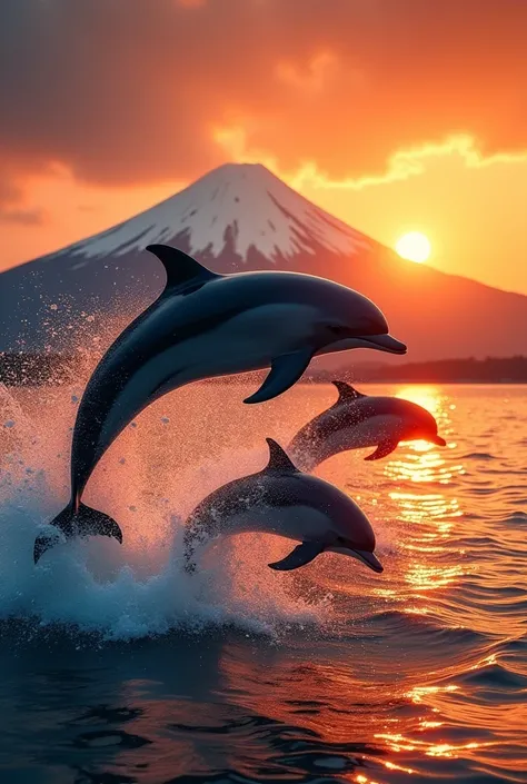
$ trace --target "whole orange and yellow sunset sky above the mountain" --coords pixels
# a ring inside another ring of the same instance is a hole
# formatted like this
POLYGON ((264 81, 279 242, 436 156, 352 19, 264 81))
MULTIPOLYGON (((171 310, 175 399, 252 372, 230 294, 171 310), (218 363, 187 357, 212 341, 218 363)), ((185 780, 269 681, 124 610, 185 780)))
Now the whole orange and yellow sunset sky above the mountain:
POLYGON ((2 0, 0 269, 226 161, 527 294, 527 2, 2 0))

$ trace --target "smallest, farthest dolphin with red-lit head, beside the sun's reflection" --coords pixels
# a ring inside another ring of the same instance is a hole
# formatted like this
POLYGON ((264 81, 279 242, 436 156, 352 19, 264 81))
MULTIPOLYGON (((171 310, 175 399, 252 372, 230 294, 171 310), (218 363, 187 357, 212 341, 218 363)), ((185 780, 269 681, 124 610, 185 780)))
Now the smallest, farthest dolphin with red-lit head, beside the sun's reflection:
POLYGON ((337 403, 305 425, 288 447, 302 470, 312 470, 350 449, 376 446, 365 460, 378 460, 394 451, 399 441, 426 440, 446 446, 437 433, 436 419, 416 403, 364 395, 345 381, 332 384, 339 393, 337 403))

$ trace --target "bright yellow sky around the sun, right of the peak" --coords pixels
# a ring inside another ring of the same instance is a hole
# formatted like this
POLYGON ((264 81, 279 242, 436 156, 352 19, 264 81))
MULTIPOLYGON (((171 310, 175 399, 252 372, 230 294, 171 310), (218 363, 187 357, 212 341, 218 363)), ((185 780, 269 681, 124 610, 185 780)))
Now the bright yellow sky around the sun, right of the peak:
POLYGON ((311 163, 288 182, 385 245, 422 231, 432 266, 527 294, 527 149, 485 155, 476 139, 451 137, 399 150, 378 177, 331 179, 311 163))

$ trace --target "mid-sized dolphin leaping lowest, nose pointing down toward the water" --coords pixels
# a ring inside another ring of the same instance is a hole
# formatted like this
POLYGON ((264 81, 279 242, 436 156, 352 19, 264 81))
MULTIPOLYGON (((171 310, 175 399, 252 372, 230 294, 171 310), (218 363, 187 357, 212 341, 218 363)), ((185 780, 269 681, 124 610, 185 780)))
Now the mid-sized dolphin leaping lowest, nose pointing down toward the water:
POLYGON ((321 553, 357 558, 374 572, 382 565, 374 554, 374 529, 357 504, 334 485, 302 474, 271 438, 269 464, 235 479, 205 498, 185 530, 185 569, 196 569, 196 555, 218 536, 259 532, 300 542, 271 569, 298 569, 321 553))

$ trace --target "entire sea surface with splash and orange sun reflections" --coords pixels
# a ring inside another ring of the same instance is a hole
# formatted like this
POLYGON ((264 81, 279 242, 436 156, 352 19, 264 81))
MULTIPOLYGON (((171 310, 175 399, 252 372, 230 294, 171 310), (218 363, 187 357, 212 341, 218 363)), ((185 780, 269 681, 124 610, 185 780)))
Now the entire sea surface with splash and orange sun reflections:
MULTIPOLYGON (((125 543, 59 546, 81 386, 0 389, 0 782, 527 782, 527 388, 368 386, 431 410, 448 447, 317 474, 377 535, 381 575, 290 543, 215 543, 181 574, 182 522, 335 399, 195 385, 112 445, 86 494, 125 543)), ((371 450, 370 450, 371 451, 371 450)))

